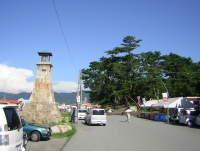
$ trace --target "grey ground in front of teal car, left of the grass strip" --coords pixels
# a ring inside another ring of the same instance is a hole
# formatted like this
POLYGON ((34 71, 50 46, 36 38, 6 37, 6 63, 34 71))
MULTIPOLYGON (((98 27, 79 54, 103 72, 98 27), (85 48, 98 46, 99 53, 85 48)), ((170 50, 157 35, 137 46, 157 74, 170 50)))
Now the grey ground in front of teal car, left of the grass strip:
POLYGON ((50 138, 39 142, 28 141, 26 151, 60 151, 67 138, 50 138))

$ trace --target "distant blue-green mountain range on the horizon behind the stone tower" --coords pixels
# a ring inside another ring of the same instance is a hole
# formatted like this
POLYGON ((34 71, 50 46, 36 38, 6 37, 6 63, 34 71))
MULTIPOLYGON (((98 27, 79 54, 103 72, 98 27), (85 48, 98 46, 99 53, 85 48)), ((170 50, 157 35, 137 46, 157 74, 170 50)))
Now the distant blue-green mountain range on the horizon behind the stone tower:
MULTIPOLYGON (((72 92, 72 93, 54 92, 55 101, 58 102, 59 104, 61 104, 61 103, 75 104, 76 103, 76 95, 77 95, 77 92, 72 92)), ((20 98, 29 99, 30 96, 31 96, 31 93, 26 93, 26 92, 21 92, 18 94, 0 92, 0 100, 2 100, 2 99, 18 100, 20 98)), ((85 98, 87 98, 87 101, 89 102, 88 93, 85 93, 84 91, 82 91, 82 100, 84 101, 85 98)))

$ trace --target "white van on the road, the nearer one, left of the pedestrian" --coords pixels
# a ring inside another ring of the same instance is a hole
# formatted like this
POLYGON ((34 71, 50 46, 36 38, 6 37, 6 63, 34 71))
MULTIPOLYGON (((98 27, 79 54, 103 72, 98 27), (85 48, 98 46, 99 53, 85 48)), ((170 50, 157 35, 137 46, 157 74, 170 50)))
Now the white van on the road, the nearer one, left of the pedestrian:
POLYGON ((85 124, 100 124, 106 126, 107 116, 104 109, 90 109, 85 116, 85 124))

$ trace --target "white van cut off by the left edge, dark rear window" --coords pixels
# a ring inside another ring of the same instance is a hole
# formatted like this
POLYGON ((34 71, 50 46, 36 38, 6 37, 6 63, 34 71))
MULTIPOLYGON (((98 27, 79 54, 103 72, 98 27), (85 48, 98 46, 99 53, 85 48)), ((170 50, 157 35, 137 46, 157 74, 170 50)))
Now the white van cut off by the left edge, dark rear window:
POLYGON ((0 151, 26 150, 26 134, 17 108, 16 104, 0 103, 0 151))

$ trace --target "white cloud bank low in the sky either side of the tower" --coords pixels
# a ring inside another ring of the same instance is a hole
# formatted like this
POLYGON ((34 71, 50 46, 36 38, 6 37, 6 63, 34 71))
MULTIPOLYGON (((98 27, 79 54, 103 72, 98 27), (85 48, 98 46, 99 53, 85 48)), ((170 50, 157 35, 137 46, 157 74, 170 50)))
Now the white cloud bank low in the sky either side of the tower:
MULTIPOLYGON (((33 82, 28 82, 27 79, 33 77, 31 70, 9 67, 6 64, 0 64, 0 92, 20 93, 32 92, 33 82)), ((56 81, 52 82, 55 92, 77 92, 78 84, 71 81, 56 81)))

